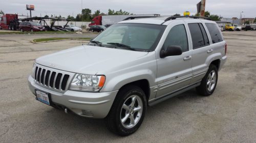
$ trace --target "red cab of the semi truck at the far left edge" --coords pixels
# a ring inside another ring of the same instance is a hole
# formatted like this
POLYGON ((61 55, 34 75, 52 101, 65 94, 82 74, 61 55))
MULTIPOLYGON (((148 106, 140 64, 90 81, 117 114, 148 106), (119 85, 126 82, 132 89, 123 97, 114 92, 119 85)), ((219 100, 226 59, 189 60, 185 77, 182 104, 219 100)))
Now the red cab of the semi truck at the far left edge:
POLYGON ((0 29, 10 29, 11 21, 18 19, 17 14, 4 14, 1 17, 0 29))

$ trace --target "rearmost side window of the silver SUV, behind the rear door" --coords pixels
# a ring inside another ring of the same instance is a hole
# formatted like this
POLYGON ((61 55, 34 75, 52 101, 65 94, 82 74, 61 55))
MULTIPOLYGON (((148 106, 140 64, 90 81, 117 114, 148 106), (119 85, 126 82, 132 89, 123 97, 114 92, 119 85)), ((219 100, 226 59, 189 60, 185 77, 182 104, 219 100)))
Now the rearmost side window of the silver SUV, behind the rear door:
POLYGON ((206 27, 208 28, 208 31, 210 33, 211 41, 212 43, 218 43, 223 41, 219 28, 216 24, 212 23, 205 23, 206 27))

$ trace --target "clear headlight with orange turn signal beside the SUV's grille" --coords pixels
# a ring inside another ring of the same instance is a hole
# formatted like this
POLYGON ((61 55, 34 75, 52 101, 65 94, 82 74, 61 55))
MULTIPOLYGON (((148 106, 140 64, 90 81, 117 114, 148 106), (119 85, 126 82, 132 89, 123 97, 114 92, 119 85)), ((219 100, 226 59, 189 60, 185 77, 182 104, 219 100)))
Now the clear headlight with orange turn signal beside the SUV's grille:
POLYGON ((104 75, 76 74, 70 84, 70 90, 74 91, 99 91, 105 83, 104 75))

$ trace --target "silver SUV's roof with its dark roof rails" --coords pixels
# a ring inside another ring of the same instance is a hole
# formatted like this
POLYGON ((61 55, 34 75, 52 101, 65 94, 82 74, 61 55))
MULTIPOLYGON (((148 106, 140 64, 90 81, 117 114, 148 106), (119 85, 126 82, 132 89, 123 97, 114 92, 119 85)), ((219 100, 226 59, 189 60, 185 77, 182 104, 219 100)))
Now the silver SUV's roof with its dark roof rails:
MULTIPOLYGON (((132 20, 123 20, 118 23, 147 23, 147 24, 163 24, 168 25, 170 22, 173 22, 175 20, 205 20, 205 19, 194 19, 189 17, 182 17, 182 18, 176 18, 174 20, 168 20, 165 21, 165 19, 168 18, 168 16, 163 17, 150 17, 150 18, 140 18, 140 19, 132 19, 132 20)), ((211 20, 207 20, 211 21, 211 20)))

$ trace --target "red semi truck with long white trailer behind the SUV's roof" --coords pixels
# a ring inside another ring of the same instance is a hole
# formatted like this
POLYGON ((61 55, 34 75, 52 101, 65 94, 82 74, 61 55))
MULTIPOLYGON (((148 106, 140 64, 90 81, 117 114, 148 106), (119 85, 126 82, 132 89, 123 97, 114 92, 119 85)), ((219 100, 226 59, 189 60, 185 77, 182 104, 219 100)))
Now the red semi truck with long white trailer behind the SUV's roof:
POLYGON ((91 25, 112 25, 131 16, 160 16, 160 14, 138 14, 138 15, 99 15, 92 19, 91 25))

